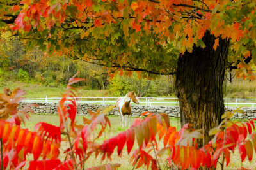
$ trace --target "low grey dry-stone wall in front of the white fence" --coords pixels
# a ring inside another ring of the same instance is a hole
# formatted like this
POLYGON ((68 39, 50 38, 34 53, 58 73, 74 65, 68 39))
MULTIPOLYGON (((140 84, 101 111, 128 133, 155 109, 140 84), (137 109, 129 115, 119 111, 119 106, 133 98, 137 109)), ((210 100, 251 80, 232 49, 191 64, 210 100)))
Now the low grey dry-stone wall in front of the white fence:
MULTIPOLYGON (((20 103, 20 107, 26 106, 28 103, 20 103)), ((32 108, 35 113, 49 113, 57 114, 57 103, 35 103, 38 107, 32 108)), ((86 115, 88 114, 88 109, 92 111, 97 111, 98 109, 104 109, 109 105, 98 105, 98 104, 78 104, 77 114, 86 115)), ((230 107, 228 110, 234 110, 235 107, 230 107)), ((256 117, 256 108, 242 108, 244 114, 235 113, 233 118, 237 119, 252 119, 256 117)), ((152 113, 167 113, 169 117, 180 117, 179 106, 142 106, 142 105, 132 105, 132 116, 140 116, 141 113, 145 111, 150 111, 152 113)), ((109 111, 109 115, 118 115, 116 108, 109 111)))

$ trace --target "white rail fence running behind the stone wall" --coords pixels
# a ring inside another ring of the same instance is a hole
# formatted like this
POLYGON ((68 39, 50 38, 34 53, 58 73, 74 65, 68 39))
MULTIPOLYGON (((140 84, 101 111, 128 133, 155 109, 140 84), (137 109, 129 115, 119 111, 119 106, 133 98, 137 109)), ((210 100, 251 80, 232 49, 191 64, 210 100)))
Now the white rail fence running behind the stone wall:
MULTIPOLYGON (((78 103, 115 104, 120 97, 77 97, 78 103)), ((61 97, 24 99, 23 102, 58 103, 61 97)), ((179 106, 179 100, 171 97, 139 97, 140 104, 147 106, 179 106)), ((225 106, 256 106, 256 99, 224 99, 225 106)), ((134 103, 131 103, 134 104, 134 103)))

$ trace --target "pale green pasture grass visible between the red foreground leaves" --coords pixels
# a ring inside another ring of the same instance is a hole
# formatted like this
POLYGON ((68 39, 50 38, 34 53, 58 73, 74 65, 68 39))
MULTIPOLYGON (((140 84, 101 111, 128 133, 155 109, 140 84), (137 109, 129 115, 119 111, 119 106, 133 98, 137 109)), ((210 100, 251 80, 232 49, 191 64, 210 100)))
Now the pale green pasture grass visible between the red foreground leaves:
MULTIPOLYGON (((88 116, 86 116, 86 118, 88 118, 88 116)), ((111 122, 111 127, 106 129, 106 133, 103 134, 102 138, 100 138, 97 142, 99 144, 103 143, 104 140, 109 139, 113 136, 116 136, 119 132, 125 131, 128 129, 128 127, 122 127, 120 125, 120 119, 119 117, 116 116, 109 116, 108 117, 110 122, 111 122)), ((137 117, 131 117, 131 124, 134 121, 134 119, 137 117)), ((76 121, 79 124, 83 123, 83 117, 82 116, 77 116, 76 117, 76 121)), ((49 124, 52 125, 59 125, 59 117, 58 115, 35 115, 35 114, 31 114, 31 117, 29 118, 29 121, 26 122, 26 125, 22 125, 22 127, 26 127, 28 128, 30 131, 34 130, 34 126, 36 123, 38 122, 47 122, 49 124)), ((170 118, 170 125, 173 127, 176 127, 177 129, 180 129, 180 120, 178 118, 170 118)), ((64 136, 63 136, 64 137, 64 136)), ((65 155, 63 155, 63 150, 65 150, 65 148, 68 147, 67 143, 61 143, 62 148, 60 149, 60 159, 64 159, 65 155)), ((159 148, 161 148, 162 142, 159 144, 159 148)), ((138 145, 136 143, 136 141, 134 142, 134 149, 138 148, 138 145)), ((119 163, 121 164, 121 168, 120 169, 132 169, 132 162, 130 160, 132 155, 132 152, 128 155, 127 154, 127 149, 126 147, 124 148, 123 152, 122 152, 122 157, 118 157, 117 153, 116 153, 116 149, 113 153, 113 155, 111 155, 111 159, 112 160, 104 160, 103 162, 101 161, 101 155, 99 155, 97 158, 95 158, 95 155, 93 154, 90 159, 88 159, 85 162, 85 167, 93 167, 93 166, 99 166, 101 164, 107 164, 107 163, 119 163)), ((152 152, 152 156, 154 156, 153 152, 152 152)), ((159 162, 161 162, 161 169, 167 169, 166 165, 166 158, 168 157, 168 155, 164 155, 159 162)), ((32 158, 31 158, 32 159, 32 158)), ((159 158, 158 158, 159 159, 159 158)), ((231 156, 231 161, 228 167, 225 167, 225 169, 237 169, 238 167, 256 167, 256 157, 255 155, 253 155, 253 160, 252 162, 249 162, 248 159, 246 159, 243 164, 241 164, 241 158, 239 156, 239 152, 238 150, 236 150, 236 152, 234 154, 232 154, 231 156)), ((147 169, 147 167, 143 167, 141 169, 147 169)), ((220 169, 220 166, 218 166, 217 169, 220 169)))

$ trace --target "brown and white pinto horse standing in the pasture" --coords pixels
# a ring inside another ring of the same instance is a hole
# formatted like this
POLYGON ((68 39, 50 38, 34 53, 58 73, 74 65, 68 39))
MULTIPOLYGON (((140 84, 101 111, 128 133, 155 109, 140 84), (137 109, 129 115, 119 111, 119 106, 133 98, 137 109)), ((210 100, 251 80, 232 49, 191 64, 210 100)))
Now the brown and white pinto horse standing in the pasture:
POLYGON ((127 118, 129 119, 128 121, 129 121, 129 126, 130 126, 130 117, 131 117, 131 113, 132 113, 131 104, 130 104, 131 100, 136 104, 140 103, 138 97, 136 96, 136 94, 133 91, 128 92, 124 96, 124 98, 117 99, 116 108, 120 115, 120 122, 122 124, 122 127, 124 127, 124 122, 125 122, 125 126, 126 126, 127 118), (125 117, 125 115, 127 115, 127 117, 125 117))

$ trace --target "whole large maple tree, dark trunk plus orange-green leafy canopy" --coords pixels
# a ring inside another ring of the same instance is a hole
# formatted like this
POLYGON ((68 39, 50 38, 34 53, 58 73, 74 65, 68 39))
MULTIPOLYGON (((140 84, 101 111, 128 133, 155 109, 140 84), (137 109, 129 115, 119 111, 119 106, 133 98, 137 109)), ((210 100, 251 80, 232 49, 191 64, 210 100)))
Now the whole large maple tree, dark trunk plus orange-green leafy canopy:
POLYGON ((244 78, 255 62, 253 0, 3 1, 0 13, 2 31, 49 55, 152 77, 177 73, 182 124, 204 126, 205 134, 224 111, 227 60, 244 78))

